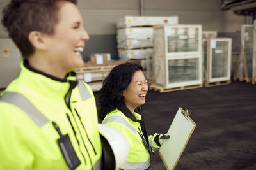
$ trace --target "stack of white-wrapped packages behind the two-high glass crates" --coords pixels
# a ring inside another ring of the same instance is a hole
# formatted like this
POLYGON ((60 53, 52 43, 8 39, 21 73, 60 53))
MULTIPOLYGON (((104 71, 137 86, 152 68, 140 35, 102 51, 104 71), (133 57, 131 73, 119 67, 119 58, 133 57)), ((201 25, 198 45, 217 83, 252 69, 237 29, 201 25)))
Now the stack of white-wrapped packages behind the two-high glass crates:
POLYGON ((125 16, 117 22, 117 47, 120 60, 141 60, 151 79, 154 26, 178 24, 178 17, 125 16))

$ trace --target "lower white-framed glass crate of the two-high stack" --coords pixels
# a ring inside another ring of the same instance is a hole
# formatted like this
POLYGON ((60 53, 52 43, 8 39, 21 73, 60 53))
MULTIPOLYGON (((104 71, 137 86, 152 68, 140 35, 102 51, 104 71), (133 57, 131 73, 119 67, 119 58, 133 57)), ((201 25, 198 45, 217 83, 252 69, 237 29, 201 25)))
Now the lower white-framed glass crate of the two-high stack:
POLYGON ((154 57, 154 83, 163 89, 202 84, 202 61, 200 55, 186 58, 154 57))

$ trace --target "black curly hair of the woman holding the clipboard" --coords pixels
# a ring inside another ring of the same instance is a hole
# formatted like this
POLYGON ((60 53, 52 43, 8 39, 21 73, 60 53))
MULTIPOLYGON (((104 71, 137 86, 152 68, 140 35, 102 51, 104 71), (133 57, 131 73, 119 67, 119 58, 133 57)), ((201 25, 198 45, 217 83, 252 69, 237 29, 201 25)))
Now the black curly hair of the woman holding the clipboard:
POLYGON ((143 67, 136 62, 125 62, 114 67, 103 81, 103 87, 99 92, 99 118, 101 120, 115 108, 124 105, 122 93, 129 83, 132 76, 138 70, 143 71, 143 67))

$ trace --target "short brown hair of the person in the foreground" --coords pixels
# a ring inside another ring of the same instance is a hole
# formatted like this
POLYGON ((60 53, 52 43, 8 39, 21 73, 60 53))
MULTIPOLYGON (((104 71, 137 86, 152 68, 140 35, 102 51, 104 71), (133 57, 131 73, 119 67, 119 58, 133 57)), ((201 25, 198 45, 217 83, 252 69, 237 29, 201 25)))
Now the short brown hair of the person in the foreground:
POLYGON ((61 1, 77 3, 76 0, 12 0, 4 8, 2 24, 24 58, 35 50, 28 39, 31 31, 54 34, 61 1))

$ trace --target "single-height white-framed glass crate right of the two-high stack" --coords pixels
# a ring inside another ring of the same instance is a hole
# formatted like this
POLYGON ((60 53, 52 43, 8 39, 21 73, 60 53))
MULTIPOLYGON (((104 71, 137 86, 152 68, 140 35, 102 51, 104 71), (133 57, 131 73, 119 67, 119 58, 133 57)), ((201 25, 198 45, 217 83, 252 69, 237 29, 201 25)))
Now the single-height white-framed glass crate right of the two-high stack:
POLYGON ((207 38, 204 41, 204 80, 208 83, 229 81, 231 74, 231 38, 207 38), (206 76, 205 76, 206 74, 206 76))

